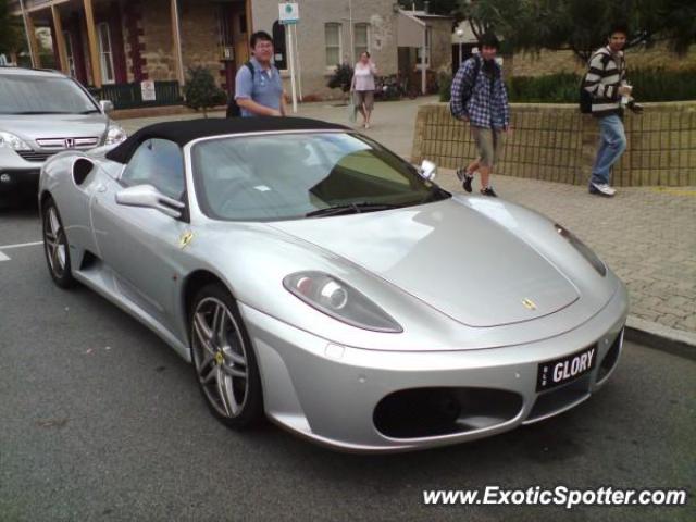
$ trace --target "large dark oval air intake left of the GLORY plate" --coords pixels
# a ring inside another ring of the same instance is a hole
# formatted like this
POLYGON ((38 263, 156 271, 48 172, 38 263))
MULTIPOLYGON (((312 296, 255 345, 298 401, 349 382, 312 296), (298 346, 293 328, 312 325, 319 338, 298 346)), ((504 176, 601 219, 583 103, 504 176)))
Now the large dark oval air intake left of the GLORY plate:
POLYGON ((373 422, 391 438, 434 437, 502 424, 522 410, 522 397, 493 388, 438 387, 395 391, 374 409, 373 422))

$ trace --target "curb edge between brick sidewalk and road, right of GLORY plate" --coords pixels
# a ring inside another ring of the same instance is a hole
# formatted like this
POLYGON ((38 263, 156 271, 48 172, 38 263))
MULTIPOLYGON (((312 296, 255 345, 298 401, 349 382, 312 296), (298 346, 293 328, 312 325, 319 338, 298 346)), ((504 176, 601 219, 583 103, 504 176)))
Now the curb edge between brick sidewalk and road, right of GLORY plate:
POLYGON ((696 361, 696 334, 674 330, 662 324, 629 315, 625 338, 664 351, 673 356, 696 361))

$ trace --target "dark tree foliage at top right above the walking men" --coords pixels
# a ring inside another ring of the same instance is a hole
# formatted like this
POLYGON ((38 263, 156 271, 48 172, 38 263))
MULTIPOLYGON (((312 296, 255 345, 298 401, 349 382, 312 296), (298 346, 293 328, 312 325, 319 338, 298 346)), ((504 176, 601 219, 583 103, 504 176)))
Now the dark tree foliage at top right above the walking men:
POLYGON ((693 0, 459 0, 472 30, 495 30, 514 49, 570 49, 586 62, 612 25, 629 27, 626 48, 666 41, 685 53, 696 41, 693 0))

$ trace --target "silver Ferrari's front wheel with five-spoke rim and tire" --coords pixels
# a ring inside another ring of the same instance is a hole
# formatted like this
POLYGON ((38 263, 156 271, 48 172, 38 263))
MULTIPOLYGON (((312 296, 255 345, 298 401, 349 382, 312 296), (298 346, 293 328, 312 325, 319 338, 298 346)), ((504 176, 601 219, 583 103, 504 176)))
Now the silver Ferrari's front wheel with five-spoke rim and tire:
POLYGON ((201 288, 190 313, 191 358, 208 408, 233 428, 263 415, 261 378, 239 310, 220 284, 201 288))

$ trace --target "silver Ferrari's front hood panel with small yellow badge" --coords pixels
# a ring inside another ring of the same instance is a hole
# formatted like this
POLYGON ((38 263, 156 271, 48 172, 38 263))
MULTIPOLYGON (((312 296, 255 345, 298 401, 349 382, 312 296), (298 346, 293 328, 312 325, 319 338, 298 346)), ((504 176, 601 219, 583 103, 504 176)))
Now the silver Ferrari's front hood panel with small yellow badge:
POLYGON ((469 326, 530 321, 580 297, 527 243, 452 199, 270 226, 362 266, 469 326))

